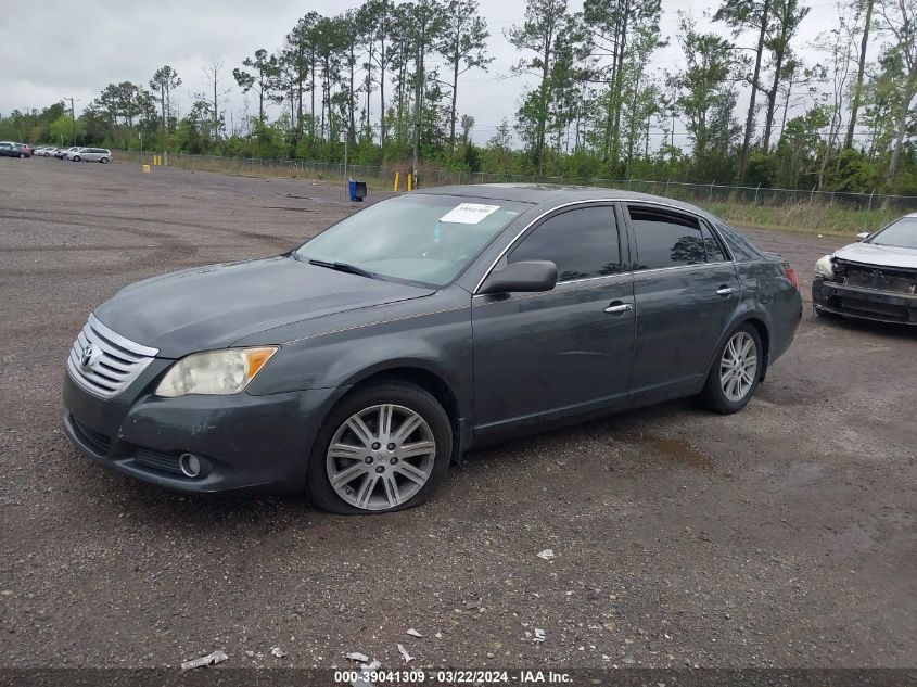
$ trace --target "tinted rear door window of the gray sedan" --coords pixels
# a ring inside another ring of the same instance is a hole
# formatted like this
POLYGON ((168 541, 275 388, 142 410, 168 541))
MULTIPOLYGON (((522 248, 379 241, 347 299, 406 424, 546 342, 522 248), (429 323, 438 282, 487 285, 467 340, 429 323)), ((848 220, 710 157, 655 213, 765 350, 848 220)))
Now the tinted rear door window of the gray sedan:
POLYGON ((700 224, 693 217, 640 206, 629 206, 627 211, 637 241, 637 269, 706 262, 700 224))

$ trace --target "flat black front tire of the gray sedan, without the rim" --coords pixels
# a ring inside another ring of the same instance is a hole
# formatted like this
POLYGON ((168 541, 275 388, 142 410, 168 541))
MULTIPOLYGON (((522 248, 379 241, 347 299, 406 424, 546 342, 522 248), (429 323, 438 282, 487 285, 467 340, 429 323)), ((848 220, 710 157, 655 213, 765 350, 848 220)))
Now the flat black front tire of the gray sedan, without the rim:
POLYGON ((451 453, 453 428, 443 406, 432 394, 420 386, 397 380, 375 383, 344 396, 321 423, 309 458, 306 492, 318 508, 342 516, 368 516, 413 508, 429 499, 443 482, 451 453), (368 510, 348 504, 334 491, 328 475, 327 456, 331 440, 351 416, 381 404, 404 406, 425 420, 435 441, 435 454, 430 476, 411 498, 395 507, 368 510))

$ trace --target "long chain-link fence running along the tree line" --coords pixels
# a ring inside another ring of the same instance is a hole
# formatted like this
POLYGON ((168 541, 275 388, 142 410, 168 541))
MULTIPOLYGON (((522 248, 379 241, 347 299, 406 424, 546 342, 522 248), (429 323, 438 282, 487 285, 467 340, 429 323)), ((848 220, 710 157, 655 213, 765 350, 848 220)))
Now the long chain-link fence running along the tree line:
MULTIPOLYGON (((150 163, 152 152, 144 153, 150 163)), ((140 162, 138 151, 122 151, 118 158, 140 162)), ((406 188, 408 168, 383 167, 379 165, 353 165, 346 169, 344 163, 324 163, 301 160, 267 160, 262 157, 225 157, 220 155, 168 155, 168 165, 180 169, 198 171, 220 171, 229 174, 280 176, 320 180, 343 180, 345 176, 366 181, 374 188, 394 188, 395 174, 399 174, 399 189, 406 188)), ((917 209, 917 195, 884 195, 876 193, 853 193, 849 191, 819 191, 812 189, 774 189, 762 186, 731 186, 726 183, 689 183, 673 179, 648 181, 645 179, 604 179, 599 177, 539 176, 514 174, 488 174, 484 171, 462 173, 441 168, 422 168, 419 186, 447 186, 461 183, 561 183, 626 189, 664 195, 690 202, 743 203, 751 205, 779 206, 815 204, 837 205, 849 209, 870 211, 879 207, 900 211, 917 209)))

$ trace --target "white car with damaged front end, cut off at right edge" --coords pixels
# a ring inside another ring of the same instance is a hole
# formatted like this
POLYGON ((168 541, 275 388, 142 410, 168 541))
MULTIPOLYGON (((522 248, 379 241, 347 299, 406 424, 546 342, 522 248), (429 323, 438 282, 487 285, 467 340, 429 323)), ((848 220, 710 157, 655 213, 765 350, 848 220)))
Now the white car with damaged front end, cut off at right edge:
POLYGON ((917 213, 856 241, 815 263, 815 313, 917 325, 917 213))

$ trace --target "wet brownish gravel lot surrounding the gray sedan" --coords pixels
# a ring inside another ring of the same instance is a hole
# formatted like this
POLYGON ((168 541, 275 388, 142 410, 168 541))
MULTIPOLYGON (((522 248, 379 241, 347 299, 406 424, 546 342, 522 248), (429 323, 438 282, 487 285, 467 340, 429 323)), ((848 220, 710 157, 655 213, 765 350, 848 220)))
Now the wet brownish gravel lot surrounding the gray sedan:
MULTIPOLYGON (((806 308, 736 416, 685 400, 477 451, 386 517, 195 500, 77 455, 60 386, 94 305, 351 207, 307 179, 0 158, 0 666, 397 667, 399 643, 435 666, 917 665, 913 329, 806 308)), ((804 292, 841 243, 749 233, 804 292)))

